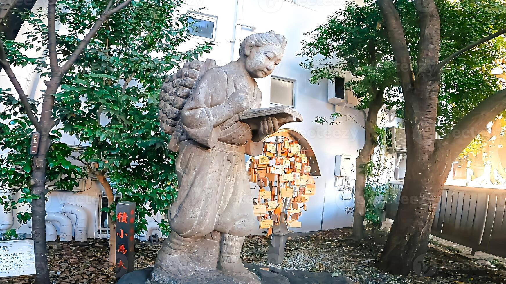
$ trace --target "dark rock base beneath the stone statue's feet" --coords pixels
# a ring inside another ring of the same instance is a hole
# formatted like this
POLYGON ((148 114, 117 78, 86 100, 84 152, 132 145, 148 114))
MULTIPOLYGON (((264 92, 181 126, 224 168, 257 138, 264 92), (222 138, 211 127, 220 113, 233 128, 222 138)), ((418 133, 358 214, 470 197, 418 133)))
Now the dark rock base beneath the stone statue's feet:
MULTIPOLYGON (((352 284, 351 280, 344 276, 330 276, 326 272, 311 272, 302 270, 283 270, 269 268, 261 269, 258 265, 246 264, 246 268, 260 277, 263 284, 352 284)), ((136 270, 125 274, 117 284, 156 284, 149 281, 151 268, 136 270)), ((185 279, 174 279, 173 284, 242 284, 219 272, 212 271, 197 273, 185 279)))

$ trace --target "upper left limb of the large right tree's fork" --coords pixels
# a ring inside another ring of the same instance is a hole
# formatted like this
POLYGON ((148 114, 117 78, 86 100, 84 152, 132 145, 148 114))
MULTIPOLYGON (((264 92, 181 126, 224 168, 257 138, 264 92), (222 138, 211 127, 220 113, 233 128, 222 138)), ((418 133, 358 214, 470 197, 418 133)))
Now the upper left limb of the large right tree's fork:
POLYGON ((404 37, 401 18, 392 0, 376 1, 383 15, 388 38, 392 45, 401 85, 405 90, 411 89, 414 84, 414 73, 413 67, 411 66, 411 58, 409 57, 406 38, 404 37))

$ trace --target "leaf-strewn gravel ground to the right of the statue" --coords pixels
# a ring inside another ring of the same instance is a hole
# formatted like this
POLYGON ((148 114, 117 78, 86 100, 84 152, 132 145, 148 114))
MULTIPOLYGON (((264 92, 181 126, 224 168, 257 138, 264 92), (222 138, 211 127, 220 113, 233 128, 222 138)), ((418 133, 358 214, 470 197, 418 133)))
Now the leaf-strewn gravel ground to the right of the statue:
POLYGON ((251 236, 244 244, 243 260, 285 269, 336 273, 360 284, 506 283, 504 264, 492 261, 496 267, 487 267, 458 255, 457 251, 432 244, 425 258, 427 276, 382 273, 374 267, 374 261, 379 259, 387 233, 376 232, 362 242, 355 242, 349 238, 350 232, 349 229, 335 229, 293 236, 286 243, 285 261, 281 265, 265 262, 268 253, 265 237, 251 236))

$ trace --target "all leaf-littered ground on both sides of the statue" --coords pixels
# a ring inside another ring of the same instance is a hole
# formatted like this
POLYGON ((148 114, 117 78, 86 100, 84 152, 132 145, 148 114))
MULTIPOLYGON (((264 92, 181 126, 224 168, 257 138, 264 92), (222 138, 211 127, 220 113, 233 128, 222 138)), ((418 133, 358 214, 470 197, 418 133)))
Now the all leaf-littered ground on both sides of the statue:
MULTIPOLYGON (((504 265, 491 261, 495 268, 478 264, 435 245, 429 247, 426 262, 435 269, 424 276, 395 276, 381 273, 373 267, 374 260, 386 241, 386 234, 379 232, 362 242, 348 238, 348 229, 326 230, 294 235, 286 243, 285 261, 281 265, 266 262, 268 243, 265 236, 248 236, 244 242, 244 262, 284 269, 301 269, 345 275, 360 284, 376 283, 506 283, 504 265), (370 260, 367 263, 364 261, 370 260)), ((136 245, 137 268, 153 266, 161 245, 136 245)), ((50 275, 53 283, 115 283, 113 267, 107 264, 108 243, 105 240, 89 242, 49 244, 50 275)), ((31 276, 0 279, 0 283, 33 283, 31 276)))

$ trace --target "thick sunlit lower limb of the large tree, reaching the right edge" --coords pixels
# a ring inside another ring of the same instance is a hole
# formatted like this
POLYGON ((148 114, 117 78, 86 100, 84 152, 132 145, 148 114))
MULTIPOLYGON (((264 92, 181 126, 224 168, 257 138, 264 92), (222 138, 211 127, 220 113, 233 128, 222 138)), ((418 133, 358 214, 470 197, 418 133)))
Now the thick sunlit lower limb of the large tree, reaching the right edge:
POLYGON ((492 94, 464 116, 452 131, 439 141, 438 152, 448 153, 450 159, 455 160, 476 135, 486 129, 487 124, 504 110, 506 110, 506 89, 492 94))

